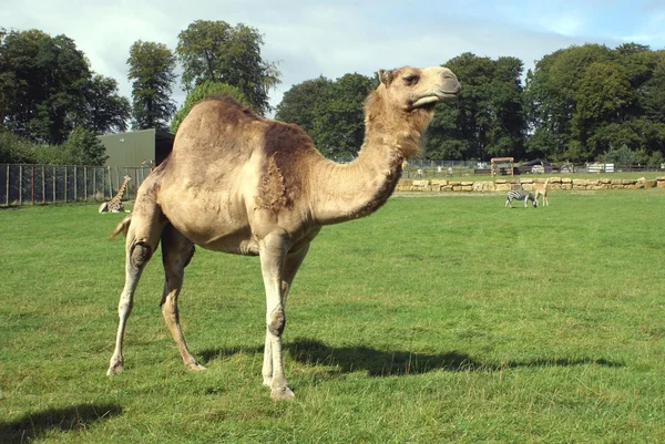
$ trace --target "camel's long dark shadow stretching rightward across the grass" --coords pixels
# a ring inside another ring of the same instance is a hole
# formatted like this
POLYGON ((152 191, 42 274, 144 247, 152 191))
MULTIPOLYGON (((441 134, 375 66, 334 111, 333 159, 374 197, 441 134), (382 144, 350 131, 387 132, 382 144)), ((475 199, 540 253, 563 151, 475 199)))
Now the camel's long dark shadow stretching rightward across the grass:
MULTIPOLYGON (((422 374, 431 371, 449 372, 494 372, 529 366, 571 366, 595 364, 623 366, 623 363, 600 358, 535 358, 524 361, 508 361, 500 364, 484 363, 468 354, 451 351, 447 353, 418 353, 410 351, 383 351, 366 345, 330 347, 315 339, 298 338, 284 344, 288 354, 299 363, 329 366, 331 373, 365 371, 370 376, 398 376, 422 374)), ((263 345, 256 348, 231 348, 203 350, 204 361, 236 353, 263 353, 263 345)))

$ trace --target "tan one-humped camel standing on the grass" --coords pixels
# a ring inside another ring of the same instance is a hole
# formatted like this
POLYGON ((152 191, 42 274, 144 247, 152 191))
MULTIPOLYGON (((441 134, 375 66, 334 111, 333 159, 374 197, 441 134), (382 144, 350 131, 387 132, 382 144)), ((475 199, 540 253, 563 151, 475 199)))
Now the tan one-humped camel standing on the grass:
POLYGON ((379 71, 365 103, 366 134, 349 164, 328 161, 298 126, 255 115, 231 99, 192 107, 173 152, 141 185, 124 231, 125 285, 108 374, 123 370, 123 335, 134 290, 162 241, 166 275, 162 314, 184 364, 205 370, 180 327, 177 298, 194 246, 258 256, 266 292, 263 383, 276 401, 294 393, 284 374, 282 338, 291 282, 324 225, 376 211, 392 194, 402 163, 421 154, 434 105, 460 91, 447 68, 379 71))

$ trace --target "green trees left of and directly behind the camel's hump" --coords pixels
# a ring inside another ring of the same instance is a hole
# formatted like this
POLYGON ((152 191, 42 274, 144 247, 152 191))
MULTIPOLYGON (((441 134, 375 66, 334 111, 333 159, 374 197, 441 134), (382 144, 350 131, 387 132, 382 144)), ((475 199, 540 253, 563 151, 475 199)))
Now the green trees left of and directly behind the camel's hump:
POLYGON ((102 165, 96 135, 170 130, 174 116, 183 118, 172 97, 178 63, 181 84, 193 96, 232 95, 266 114, 280 73, 262 58, 263 44, 252 27, 204 20, 178 34, 174 51, 139 40, 126 60, 130 101, 66 35, 0 28, 0 163, 102 165))

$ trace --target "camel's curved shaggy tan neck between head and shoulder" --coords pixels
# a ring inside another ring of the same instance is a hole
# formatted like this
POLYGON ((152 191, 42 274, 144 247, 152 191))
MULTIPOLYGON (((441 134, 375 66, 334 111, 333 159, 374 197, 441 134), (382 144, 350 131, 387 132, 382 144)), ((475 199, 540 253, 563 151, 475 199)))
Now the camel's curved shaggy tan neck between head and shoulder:
POLYGON ((421 131, 428 122, 429 114, 388 115, 374 93, 366 105, 365 142, 358 157, 346 165, 325 159, 313 165, 315 220, 328 225, 356 219, 383 205, 401 177, 403 162, 420 153, 421 131))

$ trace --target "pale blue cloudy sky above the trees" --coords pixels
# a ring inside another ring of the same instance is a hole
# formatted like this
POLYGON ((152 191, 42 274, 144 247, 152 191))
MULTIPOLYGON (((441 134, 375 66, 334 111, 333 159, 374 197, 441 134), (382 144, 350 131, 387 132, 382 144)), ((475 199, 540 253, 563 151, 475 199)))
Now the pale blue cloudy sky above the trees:
MULTIPOLYGON (((127 97, 132 43, 175 50, 195 20, 242 22, 264 34, 264 60, 278 62, 283 80, 273 105, 321 74, 438 65, 463 52, 516 56, 529 69, 571 44, 665 48, 665 0, 0 0, 0 27, 70 37, 127 97)), ((174 99, 184 100, 180 84, 174 99)))

